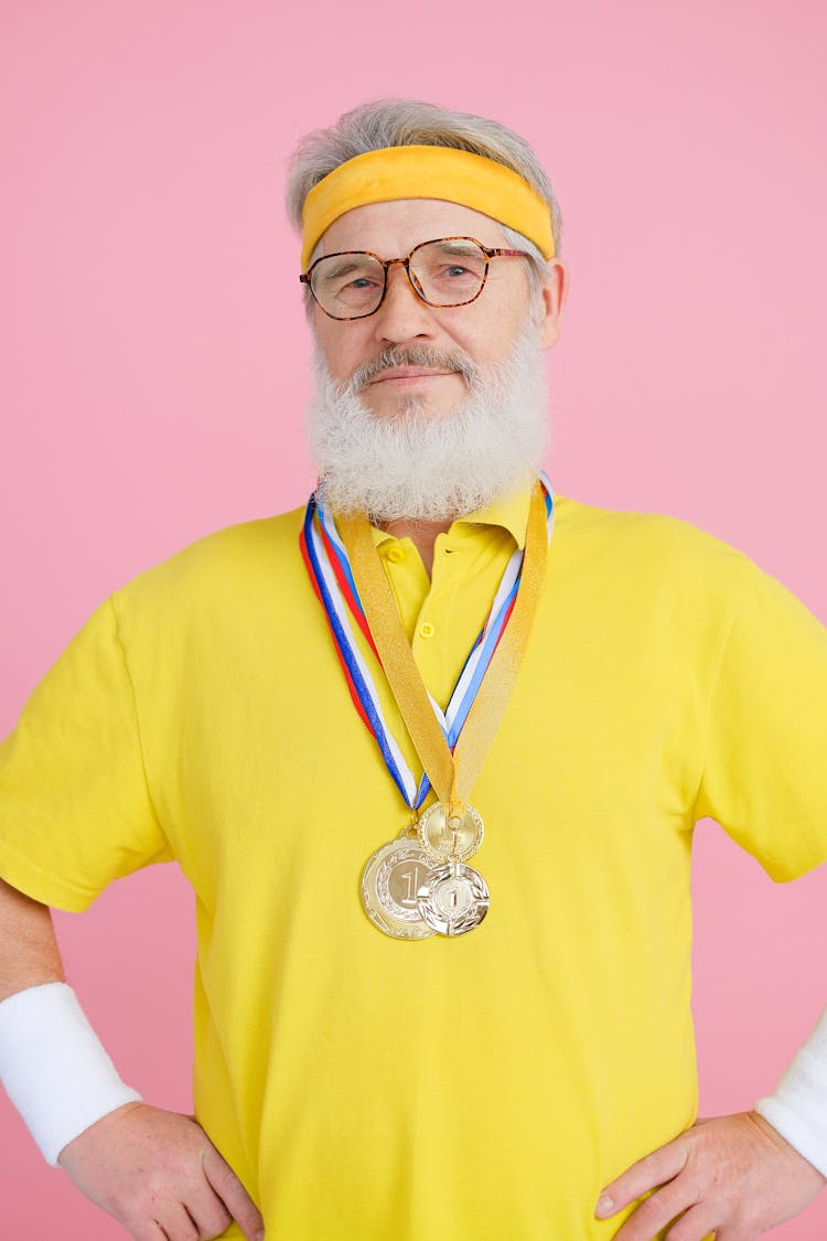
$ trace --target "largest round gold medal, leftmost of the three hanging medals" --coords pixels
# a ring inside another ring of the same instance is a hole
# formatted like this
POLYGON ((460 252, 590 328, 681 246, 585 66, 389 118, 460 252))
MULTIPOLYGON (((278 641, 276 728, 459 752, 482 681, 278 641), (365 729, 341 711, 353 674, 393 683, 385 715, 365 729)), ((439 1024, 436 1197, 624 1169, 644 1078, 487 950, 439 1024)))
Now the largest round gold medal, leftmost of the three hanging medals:
POLYGON ((433 927, 419 913, 419 889, 431 862, 415 840, 400 838, 377 849, 362 871, 361 895, 371 922, 394 939, 425 939, 433 927))

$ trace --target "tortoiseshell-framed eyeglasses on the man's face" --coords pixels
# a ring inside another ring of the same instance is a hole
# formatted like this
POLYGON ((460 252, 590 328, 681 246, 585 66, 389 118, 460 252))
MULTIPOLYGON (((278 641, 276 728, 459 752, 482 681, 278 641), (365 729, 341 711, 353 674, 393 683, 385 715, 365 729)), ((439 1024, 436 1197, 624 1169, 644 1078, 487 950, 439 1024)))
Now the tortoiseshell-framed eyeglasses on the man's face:
POLYGON ((446 308, 476 302, 492 258, 531 256, 524 249, 492 249, 476 237, 438 237, 414 246, 404 258, 379 258, 369 249, 324 254, 299 279, 331 319, 366 319, 382 305, 394 263, 404 267, 418 298, 446 308))

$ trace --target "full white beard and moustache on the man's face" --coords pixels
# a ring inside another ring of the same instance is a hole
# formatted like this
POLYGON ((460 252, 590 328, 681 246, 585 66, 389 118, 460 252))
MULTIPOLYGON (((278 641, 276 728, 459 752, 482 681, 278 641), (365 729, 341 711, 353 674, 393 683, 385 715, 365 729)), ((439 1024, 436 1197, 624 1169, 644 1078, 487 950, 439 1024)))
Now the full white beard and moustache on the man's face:
POLYGON ((346 383, 316 347, 307 441, 324 494, 337 513, 374 521, 446 521, 466 516, 537 477, 548 439, 548 391, 537 326, 529 315, 507 361, 481 371, 465 355, 414 346, 387 350, 346 383), (392 417, 360 396, 387 366, 460 370, 467 397, 443 414, 409 400, 392 417))

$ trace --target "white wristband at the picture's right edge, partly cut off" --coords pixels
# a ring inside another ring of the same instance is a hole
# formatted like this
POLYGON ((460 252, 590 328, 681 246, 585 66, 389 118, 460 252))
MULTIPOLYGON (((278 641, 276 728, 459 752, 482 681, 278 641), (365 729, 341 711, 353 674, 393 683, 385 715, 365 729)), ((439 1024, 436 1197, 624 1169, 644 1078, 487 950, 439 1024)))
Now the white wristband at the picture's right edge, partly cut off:
POLYGON ((759 1098, 755 1111, 827 1176, 827 1009, 775 1092, 759 1098))

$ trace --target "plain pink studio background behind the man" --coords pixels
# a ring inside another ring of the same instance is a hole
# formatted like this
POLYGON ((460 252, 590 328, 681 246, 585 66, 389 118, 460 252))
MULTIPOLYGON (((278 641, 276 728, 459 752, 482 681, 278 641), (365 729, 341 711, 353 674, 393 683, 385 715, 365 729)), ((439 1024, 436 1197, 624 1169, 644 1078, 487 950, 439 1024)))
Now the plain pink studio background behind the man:
MULTIPOLYGON (((285 159, 368 97, 536 145, 572 297, 552 359, 564 494, 667 511, 827 618, 821 0, 5 0, 0 10, 0 732, 97 603, 298 504, 309 339, 285 159)), ((772 1087, 825 995, 827 876, 775 887, 698 833, 702 1112, 772 1087)), ((191 901, 172 867, 58 917, 122 1073, 187 1108, 191 901)), ((0 1106, 2 1236, 124 1234, 0 1106)), ((827 1195, 776 1230, 815 1241, 827 1195)))

